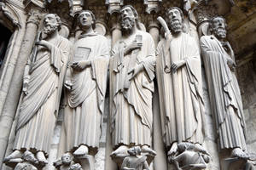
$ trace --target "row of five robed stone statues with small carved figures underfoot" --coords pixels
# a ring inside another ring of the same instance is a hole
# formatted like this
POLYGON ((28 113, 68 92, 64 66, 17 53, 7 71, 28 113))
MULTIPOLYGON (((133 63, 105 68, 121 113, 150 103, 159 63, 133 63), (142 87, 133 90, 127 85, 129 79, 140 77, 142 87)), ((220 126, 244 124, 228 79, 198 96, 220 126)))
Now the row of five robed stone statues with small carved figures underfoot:
POLYGON ((109 54, 108 40, 94 31, 96 19, 89 10, 79 13, 82 33, 73 46, 58 34, 60 17, 47 14, 26 65, 14 152, 5 163, 21 160, 17 169, 26 162, 36 169, 48 163, 65 87, 67 105, 61 135, 65 136, 66 154, 55 162, 55 167, 82 169, 81 160, 95 156, 99 148, 109 68, 111 156, 120 162, 120 168, 149 169, 156 155, 152 149, 154 75, 168 160, 177 169, 205 168, 210 159, 202 146, 201 54, 219 148, 232 149, 231 156, 247 159, 236 64, 230 43, 224 42, 224 18, 212 19, 212 35, 201 37, 200 54, 195 39, 183 32, 182 10, 169 8, 166 15, 167 24, 161 22, 165 37, 155 53, 153 38, 140 29, 136 9, 129 5, 121 8, 122 37, 109 54), (27 156, 30 159, 23 159, 27 156))

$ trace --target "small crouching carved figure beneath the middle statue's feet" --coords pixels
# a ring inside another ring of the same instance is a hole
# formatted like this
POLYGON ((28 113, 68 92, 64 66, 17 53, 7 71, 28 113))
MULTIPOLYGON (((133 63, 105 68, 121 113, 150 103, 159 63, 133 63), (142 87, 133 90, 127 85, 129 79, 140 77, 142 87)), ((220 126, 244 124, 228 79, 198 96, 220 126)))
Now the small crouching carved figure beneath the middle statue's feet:
POLYGON ((141 156, 139 146, 133 146, 127 151, 130 156, 125 157, 121 170, 149 170, 147 156, 141 156))

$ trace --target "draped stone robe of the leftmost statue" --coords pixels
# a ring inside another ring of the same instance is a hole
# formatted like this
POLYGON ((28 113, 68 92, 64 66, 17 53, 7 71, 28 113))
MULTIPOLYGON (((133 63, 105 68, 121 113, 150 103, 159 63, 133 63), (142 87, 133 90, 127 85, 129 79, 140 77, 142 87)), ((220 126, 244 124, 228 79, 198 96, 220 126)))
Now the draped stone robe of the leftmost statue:
POLYGON ((39 47, 36 61, 29 58, 30 80, 17 112, 14 150, 49 153, 70 51, 66 38, 58 36, 53 41, 50 52, 39 47))

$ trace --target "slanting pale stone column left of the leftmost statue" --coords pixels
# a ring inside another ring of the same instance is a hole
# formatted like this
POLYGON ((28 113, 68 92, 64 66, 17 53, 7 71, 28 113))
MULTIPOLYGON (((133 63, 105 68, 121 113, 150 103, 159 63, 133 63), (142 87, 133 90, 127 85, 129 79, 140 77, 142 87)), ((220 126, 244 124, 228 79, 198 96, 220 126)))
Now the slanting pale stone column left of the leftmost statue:
POLYGON ((27 58, 32 51, 41 16, 42 14, 39 8, 31 8, 29 17, 26 21, 26 32, 21 44, 19 59, 16 63, 14 76, 12 77, 12 83, 9 88, 9 94, 5 100, 0 119, 0 150, 2 150, 0 152, 0 167, 2 167, 3 164, 3 157, 7 148, 9 134, 12 129, 15 112, 20 99, 24 68, 27 58))

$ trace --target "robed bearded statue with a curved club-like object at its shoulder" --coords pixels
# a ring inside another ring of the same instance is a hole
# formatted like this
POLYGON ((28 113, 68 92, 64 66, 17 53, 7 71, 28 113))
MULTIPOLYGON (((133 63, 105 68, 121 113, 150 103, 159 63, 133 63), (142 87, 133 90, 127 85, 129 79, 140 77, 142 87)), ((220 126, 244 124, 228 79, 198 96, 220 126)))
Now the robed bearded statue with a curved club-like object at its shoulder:
POLYGON ((166 14, 172 35, 158 44, 156 71, 164 142, 173 155, 181 142, 202 143, 204 106, 199 48, 182 31, 182 10, 169 8, 166 14))

